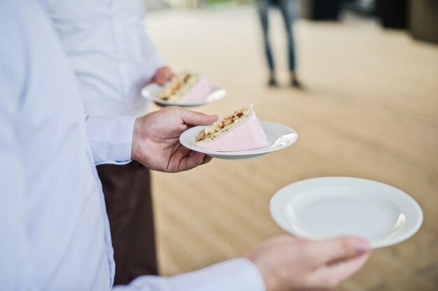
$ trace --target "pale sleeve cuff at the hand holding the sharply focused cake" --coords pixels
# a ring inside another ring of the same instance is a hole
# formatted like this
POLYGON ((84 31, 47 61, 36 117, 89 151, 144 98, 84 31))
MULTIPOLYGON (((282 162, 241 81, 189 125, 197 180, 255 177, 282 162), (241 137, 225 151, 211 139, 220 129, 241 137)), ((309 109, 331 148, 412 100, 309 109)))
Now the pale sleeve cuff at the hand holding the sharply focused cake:
POLYGON ((131 162, 132 135, 136 118, 128 116, 85 118, 95 164, 131 162))

